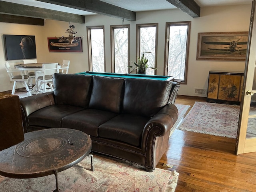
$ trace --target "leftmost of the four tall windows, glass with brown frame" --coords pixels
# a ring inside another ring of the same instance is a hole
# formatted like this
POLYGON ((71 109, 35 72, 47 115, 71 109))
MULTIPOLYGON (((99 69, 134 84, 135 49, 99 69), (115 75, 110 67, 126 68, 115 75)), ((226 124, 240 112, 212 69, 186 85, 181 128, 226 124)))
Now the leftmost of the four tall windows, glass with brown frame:
POLYGON ((104 26, 87 26, 89 70, 105 72, 104 26))

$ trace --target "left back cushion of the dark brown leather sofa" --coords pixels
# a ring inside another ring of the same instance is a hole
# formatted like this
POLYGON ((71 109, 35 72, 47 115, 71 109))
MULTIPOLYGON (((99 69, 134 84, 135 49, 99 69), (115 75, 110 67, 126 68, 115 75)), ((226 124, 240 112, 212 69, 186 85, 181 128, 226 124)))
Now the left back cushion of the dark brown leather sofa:
POLYGON ((56 104, 88 107, 92 76, 56 73, 53 77, 56 104))

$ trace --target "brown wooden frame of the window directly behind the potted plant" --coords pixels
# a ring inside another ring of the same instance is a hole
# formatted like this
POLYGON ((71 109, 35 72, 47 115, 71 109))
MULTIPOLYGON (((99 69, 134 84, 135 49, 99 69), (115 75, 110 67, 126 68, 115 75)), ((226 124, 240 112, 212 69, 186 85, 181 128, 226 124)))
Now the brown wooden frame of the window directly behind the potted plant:
MULTIPOLYGON (((136 62, 138 62, 138 56, 140 56, 140 28, 142 27, 156 27, 156 46, 155 46, 155 64, 157 68, 157 45, 158 45, 158 23, 136 24, 136 62)), ((156 70, 154 70, 156 75, 156 70)))

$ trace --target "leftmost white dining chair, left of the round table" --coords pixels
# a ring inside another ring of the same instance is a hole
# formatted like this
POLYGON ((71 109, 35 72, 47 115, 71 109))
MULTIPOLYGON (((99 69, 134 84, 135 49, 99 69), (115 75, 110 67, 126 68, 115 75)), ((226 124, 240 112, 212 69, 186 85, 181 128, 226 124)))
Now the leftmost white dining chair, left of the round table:
POLYGON ((6 68, 6 71, 8 72, 8 75, 10 77, 10 81, 13 81, 13 87, 12 87, 12 94, 15 93, 15 90, 16 90, 16 84, 17 82, 21 83, 24 85, 24 87, 26 88, 28 94, 31 96, 31 92, 29 90, 29 87, 28 87, 28 84, 27 84, 27 81, 28 81, 28 78, 29 76, 28 75, 25 75, 23 74, 22 71, 20 70, 14 70, 10 67, 10 64, 9 62, 6 62, 4 64, 5 68, 6 68), (17 75, 18 74, 18 75, 17 75))

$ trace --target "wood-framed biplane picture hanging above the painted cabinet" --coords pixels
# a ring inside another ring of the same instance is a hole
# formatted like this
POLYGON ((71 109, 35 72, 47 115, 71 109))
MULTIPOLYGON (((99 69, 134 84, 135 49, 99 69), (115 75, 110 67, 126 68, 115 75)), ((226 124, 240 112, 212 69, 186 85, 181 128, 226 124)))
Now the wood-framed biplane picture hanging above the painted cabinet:
POLYGON ((197 60, 245 61, 248 32, 198 33, 197 60))

